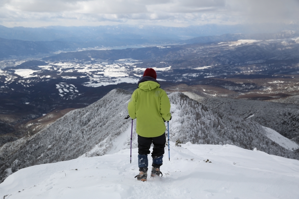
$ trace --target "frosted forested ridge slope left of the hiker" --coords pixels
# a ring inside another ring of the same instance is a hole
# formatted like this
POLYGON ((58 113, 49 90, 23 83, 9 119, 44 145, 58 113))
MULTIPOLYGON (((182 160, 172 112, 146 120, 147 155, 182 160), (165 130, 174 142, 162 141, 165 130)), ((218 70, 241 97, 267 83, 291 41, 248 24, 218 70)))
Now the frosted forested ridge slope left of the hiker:
POLYGON ((16 172, 36 164, 77 158, 98 143, 105 146, 106 153, 113 139, 126 129, 128 122, 123 118, 129 99, 127 91, 113 90, 86 108, 70 111, 31 137, 4 144, 0 157, 7 164, 0 166, 0 178, 6 177, 9 168, 16 172))

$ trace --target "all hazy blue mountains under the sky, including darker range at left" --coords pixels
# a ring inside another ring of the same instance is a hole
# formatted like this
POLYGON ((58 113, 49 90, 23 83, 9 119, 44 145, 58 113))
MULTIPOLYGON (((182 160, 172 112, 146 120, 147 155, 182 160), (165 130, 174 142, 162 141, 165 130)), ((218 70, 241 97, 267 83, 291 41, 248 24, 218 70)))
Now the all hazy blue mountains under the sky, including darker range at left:
POLYGON ((0 25, 0 59, 44 55, 57 51, 86 50, 86 48, 140 48, 157 45, 231 42, 239 39, 288 39, 299 36, 299 33, 295 31, 296 28, 279 33, 258 34, 248 34, 249 29, 249 27, 240 25, 189 27, 51 26, 42 28, 7 28, 0 25))

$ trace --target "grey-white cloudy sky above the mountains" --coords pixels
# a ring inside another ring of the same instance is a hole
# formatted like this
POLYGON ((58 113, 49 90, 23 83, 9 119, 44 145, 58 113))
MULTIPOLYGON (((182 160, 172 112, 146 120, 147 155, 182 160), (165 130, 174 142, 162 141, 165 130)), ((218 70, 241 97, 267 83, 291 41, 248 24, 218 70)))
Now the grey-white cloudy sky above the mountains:
POLYGON ((7 27, 299 24, 299 0, 0 0, 7 27))

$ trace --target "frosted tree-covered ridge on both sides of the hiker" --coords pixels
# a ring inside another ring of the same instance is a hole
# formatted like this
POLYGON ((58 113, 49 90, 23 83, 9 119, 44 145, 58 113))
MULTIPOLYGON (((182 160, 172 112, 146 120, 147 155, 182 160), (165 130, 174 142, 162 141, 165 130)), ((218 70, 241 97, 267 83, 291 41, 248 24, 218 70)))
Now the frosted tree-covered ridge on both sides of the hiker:
MULTIPOLYGON (((128 91, 110 91, 94 104, 70 111, 33 136, 4 144, 0 148, 0 157, 6 164, 0 167, 0 180, 7 177, 8 171, 16 172, 32 165, 129 149, 129 136, 123 133, 129 132, 131 124, 129 120, 124 120, 130 97, 128 91)), ((170 121, 171 141, 232 144, 299 159, 293 151, 266 137, 265 130, 254 121, 213 113, 205 105, 179 92, 169 94, 169 98, 173 115, 170 121)), ((135 123, 133 147, 137 147, 135 123)))

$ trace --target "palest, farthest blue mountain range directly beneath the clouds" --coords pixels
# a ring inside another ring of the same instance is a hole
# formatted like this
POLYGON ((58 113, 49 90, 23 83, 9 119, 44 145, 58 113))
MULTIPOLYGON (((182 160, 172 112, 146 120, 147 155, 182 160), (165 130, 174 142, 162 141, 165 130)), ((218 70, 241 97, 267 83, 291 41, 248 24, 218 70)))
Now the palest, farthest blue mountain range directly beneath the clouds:
MULTIPOLYGON (((290 30, 293 30, 292 27, 290 28, 290 30)), ((203 25, 189 27, 113 25, 96 27, 48 26, 39 28, 8 28, 0 25, 0 37, 25 41, 95 42, 107 39, 140 39, 150 41, 191 39, 199 36, 222 35, 225 33, 245 33, 248 29, 250 29, 250 27, 241 25, 203 25)), ((252 31, 249 31, 249 33, 252 33, 252 31)))

